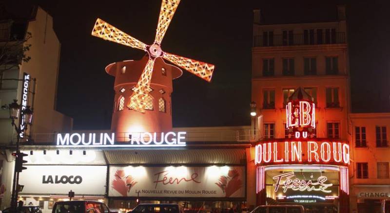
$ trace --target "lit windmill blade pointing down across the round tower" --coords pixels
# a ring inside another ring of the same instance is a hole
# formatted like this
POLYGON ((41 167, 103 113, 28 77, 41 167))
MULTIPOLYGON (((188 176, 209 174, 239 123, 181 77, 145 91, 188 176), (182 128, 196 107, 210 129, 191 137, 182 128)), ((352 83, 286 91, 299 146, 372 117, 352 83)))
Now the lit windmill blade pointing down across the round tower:
POLYGON ((141 77, 139 77, 138 83, 134 88, 133 95, 130 97, 130 102, 127 107, 137 110, 138 112, 145 112, 146 97, 149 95, 150 82, 152 79, 153 66, 155 60, 149 58, 145 69, 142 71, 141 77))

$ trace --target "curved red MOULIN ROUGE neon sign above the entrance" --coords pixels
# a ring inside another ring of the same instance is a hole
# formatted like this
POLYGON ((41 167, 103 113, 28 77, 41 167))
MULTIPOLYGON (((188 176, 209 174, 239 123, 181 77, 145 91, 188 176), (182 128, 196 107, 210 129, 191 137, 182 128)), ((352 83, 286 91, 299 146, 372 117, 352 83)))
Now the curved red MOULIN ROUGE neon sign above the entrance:
POLYGON ((348 165, 350 146, 343 142, 285 141, 255 146, 255 164, 328 163, 348 165))

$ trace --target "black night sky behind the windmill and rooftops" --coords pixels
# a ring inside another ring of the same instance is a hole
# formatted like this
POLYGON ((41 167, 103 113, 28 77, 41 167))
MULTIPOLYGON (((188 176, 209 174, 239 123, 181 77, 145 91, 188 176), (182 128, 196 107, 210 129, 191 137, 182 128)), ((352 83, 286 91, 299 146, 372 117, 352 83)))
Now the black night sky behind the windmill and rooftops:
MULTIPOLYGON (((36 2, 54 18, 61 43, 57 110, 74 118, 75 129, 109 129, 114 77, 104 68, 144 52, 92 36, 95 20, 151 44, 161 1, 36 2)), ((347 7, 353 111, 390 111, 388 1, 182 0, 162 50, 216 68, 211 83, 187 71, 174 80, 174 126, 250 124, 253 9, 261 8, 268 23, 299 23, 334 20, 337 4, 347 7)))

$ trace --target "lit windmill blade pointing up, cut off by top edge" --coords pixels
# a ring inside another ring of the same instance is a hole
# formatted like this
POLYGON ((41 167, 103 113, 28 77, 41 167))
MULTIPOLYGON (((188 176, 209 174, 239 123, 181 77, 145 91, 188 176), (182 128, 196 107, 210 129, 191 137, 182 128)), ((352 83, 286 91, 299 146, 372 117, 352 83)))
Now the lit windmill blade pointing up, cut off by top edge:
POLYGON ((164 37, 165 32, 175 15, 175 11, 179 3, 180 0, 162 0, 155 38, 155 43, 158 45, 161 44, 162 38, 164 37))

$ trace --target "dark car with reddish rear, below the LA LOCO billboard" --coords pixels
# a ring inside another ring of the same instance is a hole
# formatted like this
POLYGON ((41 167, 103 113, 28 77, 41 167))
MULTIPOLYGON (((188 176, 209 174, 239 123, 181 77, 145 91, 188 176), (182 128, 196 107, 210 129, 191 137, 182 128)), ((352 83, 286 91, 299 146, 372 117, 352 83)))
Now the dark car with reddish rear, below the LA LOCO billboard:
POLYGON ((97 201, 72 200, 57 202, 52 213, 111 213, 106 204, 97 201))

